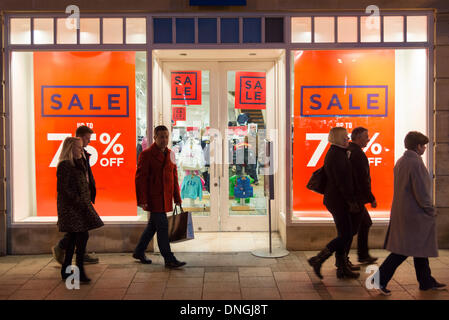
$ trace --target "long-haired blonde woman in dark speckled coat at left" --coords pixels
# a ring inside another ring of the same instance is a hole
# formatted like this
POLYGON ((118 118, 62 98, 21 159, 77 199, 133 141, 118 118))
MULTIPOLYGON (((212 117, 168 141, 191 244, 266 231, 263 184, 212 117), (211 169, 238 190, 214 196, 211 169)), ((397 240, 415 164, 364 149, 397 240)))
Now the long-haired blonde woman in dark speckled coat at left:
POLYGON ((104 224, 92 206, 89 173, 83 160, 82 146, 80 138, 72 137, 66 138, 62 145, 56 170, 58 227, 60 232, 67 232, 65 257, 61 268, 62 279, 65 280, 70 275, 66 271, 72 264, 76 248, 76 266, 79 268, 80 282, 90 282, 84 271, 88 231, 104 224))

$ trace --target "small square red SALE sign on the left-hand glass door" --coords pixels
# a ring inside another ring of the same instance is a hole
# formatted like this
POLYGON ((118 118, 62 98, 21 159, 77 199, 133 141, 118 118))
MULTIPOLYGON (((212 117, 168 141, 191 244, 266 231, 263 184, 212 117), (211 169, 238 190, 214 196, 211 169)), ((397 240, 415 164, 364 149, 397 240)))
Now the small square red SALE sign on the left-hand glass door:
POLYGON ((172 71, 171 104, 186 106, 201 104, 201 70, 172 71))

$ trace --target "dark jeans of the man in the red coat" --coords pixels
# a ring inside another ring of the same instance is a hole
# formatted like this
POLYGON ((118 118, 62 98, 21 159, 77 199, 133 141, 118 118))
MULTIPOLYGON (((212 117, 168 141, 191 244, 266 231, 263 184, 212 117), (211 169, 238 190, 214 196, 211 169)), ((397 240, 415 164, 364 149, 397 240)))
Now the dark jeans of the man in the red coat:
POLYGON ((171 252, 170 242, 168 241, 168 220, 165 212, 151 212, 147 227, 140 237, 134 252, 138 255, 143 255, 148 247, 154 234, 157 232, 157 244, 164 257, 165 262, 175 261, 176 258, 171 252))

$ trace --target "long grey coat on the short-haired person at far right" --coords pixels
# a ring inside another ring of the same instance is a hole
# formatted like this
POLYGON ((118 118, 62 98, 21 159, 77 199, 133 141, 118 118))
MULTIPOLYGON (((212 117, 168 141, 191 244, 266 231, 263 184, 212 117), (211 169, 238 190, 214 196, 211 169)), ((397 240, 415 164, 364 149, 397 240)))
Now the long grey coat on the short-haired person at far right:
POLYGON ((438 257, 431 178, 421 157, 407 150, 394 167, 394 195, 384 248, 412 257, 438 257))

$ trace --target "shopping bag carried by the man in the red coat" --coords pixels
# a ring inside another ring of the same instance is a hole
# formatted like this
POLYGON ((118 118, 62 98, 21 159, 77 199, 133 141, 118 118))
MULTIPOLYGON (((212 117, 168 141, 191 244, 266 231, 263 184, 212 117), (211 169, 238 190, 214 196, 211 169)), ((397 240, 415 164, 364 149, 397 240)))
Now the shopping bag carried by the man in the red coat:
POLYGON ((167 217, 168 220, 168 240, 170 242, 182 242, 194 239, 192 213, 184 211, 178 213, 177 206, 173 214, 167 217))

